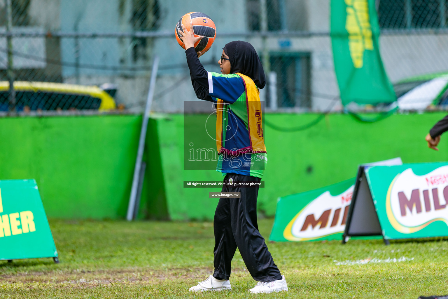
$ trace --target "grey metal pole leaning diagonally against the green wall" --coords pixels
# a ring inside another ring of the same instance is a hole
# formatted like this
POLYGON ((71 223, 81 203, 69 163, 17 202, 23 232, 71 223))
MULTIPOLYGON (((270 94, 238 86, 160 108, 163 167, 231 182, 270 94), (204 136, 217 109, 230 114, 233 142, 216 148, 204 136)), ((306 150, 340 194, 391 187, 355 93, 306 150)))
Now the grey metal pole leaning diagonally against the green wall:
POLYGON ((140 139, 138 141, 137 160, 135 161, 134 178, 132 180, 131 195, 129 197, 128 212, 126 219, 131 221, 134 216, 135 199, 137 198, 138 181, 140 176, 140 168, 142 167, 143 149, 145 147, 146 129, 148 127, 149 112, 151 111, 152 98, 154 97, 155 78, 157 77, 157 70, 159 69, 159 56, 154 57, 152 64, 151 80, 149 83, 148 97, 146 98, 145 113, 143 114, 142 130, 140 131, 140 139))

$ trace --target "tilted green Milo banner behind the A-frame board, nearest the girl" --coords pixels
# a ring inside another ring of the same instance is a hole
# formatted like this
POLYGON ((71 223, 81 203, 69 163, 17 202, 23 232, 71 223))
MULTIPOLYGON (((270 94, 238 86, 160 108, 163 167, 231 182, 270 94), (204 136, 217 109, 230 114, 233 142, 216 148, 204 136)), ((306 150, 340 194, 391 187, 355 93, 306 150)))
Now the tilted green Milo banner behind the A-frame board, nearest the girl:
POLYGON ((355 179, 281 197, 272 227, 272 241, 341 239, 355 179))

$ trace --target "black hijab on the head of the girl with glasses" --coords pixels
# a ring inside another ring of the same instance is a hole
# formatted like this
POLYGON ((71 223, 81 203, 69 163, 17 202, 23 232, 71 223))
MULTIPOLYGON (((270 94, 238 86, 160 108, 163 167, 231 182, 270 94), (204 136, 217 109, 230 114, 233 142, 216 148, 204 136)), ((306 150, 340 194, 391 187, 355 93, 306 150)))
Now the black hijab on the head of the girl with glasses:
POLYGON ((263 88, 266 85, 266 76, 260 57, 250 43, 237 40, 227 43, 223 49, 230 60, 230 74, 246 75, 254 80, 258 88, 263 88))

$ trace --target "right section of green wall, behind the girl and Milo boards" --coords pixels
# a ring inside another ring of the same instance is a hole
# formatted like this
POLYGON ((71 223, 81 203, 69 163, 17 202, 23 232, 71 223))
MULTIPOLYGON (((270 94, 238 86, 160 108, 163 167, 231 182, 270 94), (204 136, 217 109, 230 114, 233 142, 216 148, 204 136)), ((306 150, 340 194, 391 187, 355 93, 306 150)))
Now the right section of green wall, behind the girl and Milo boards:
MULTIPOLYGON (((268 153, 258 194, 258 208, 267 216, 275 213, 277 198, 307 191, 356 176, 362 163, 401 156, 403 162, 448 160, 448 136, 440 151, 428 149, 424 140, 431 126, 446 113, 397 114, 376 123, 362 123, 344 114, 328 115, 308 130, 285 133, 265 126, 268 153)), ((300 126, 315 114, 266 114, 277 126, 300 126)), ((166 199, 171 219, 212 219, 217 200, 209 191, 219 189, 183 188, 184 180, 221 180, 220 173, 183 170, 183 116, 159 119, 166 199)), ((213 145, 212 145, 213 146, 213 145)))

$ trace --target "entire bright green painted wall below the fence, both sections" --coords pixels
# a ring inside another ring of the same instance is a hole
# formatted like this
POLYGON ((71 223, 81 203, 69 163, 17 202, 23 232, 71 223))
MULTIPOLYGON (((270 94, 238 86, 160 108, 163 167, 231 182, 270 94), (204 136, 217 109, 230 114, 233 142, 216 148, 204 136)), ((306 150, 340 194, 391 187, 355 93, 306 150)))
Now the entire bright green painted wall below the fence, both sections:
MULTIPOLYGON (((376 123, 332 114, 305 131, 265 126, 268 164, 258 208, 275 213, 279 196, 352 178, 360 163, 401 156, 404 162, 448 160, 424 137, 445 113, 398 114, 376 123)), ((299 126, 313 114, 266 114, 277 126, 299 126)), ((0 118, 0 179, 36 179, 48 217, 123 218, 126 215, 142 117, 100 115, 0 118)), ((219 189, 183 188, 184 180, 222 180, 214 170, 183 170, 183 116, 151 119, 139 218, 212 219, 219 189)), ((211 147, 215 144, 211 140, 211 147)))

